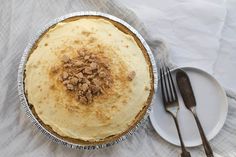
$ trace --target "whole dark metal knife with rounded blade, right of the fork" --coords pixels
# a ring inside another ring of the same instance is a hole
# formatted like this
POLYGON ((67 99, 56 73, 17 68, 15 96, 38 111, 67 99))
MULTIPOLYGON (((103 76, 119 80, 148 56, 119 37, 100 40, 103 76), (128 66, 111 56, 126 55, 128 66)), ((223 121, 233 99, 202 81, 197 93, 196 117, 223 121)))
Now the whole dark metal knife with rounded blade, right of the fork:
POLYGON ((193 89, 192 89, 190 79, 189 79, 187 73, 181 69, 177 70, 176 81, 177 81, 177 85, 178 85, 180 94, 183 98, 185 106, 188 108, 188 110, 190 110, 192 112, 192 114, 195 118, 198 130, 199 130, 199 133, 200 133, 200 136, 202 139, 202 144, 203 144, 205 153, 206 153, 207 157, 214 157, 211 146, 205 136, 202 125, 197 117, 196 100, 195 100, 193 89))

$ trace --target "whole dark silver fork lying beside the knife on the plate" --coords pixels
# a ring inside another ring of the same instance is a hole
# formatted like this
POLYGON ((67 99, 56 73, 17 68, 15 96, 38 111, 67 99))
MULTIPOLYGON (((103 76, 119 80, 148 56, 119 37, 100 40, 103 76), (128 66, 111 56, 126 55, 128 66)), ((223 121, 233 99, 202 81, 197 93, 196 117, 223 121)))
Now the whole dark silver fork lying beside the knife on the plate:
POLYGON ((177 121, 177 113, 179 110, 178 97, 175 90, 175 85, 168 67, 160 69, 160 81, 161 81, 161 93, 163 104, 167 113, 169 113, 174 121, 178 131, 179 140, 181 144, 181 157, 191 157, 190 153, 186 150, 182 136, 179 130, 179 124, 177 121))

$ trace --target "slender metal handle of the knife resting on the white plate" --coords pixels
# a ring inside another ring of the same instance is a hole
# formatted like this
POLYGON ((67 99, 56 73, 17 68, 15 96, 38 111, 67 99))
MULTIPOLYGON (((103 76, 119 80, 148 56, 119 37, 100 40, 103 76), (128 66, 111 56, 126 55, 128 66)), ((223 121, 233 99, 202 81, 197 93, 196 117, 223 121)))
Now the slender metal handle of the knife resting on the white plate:
POLYGON ((200 133, 200 136, 201 136, 201 139, 202 139, 202 145, 203 145, 203 148, 205 150, 205 153, 207 155, 207 157, 214 157, 214 154, 213 154, 213 151, 211 149, 211 146, 206 138, 206 135, 203 131, 203 128, 202 128, 202 125, 197 117, 197 114, 196 112, 192 111, 193 112, 193 116, 195 118, 195 121, 197 123, 197 127, 198 127, 198 130, 199 130, 199 133, 200 133))

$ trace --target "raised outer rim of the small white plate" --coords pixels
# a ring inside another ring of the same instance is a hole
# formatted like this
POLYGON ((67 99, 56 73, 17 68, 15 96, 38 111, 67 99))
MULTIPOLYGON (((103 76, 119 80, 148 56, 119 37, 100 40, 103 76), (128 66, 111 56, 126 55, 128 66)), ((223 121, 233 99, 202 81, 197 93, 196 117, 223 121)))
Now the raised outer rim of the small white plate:
MULTIPOLYGON (((200 69, 200 68, 194 67, 194 66, 178 66, 178 67, 174 67, 174 68, 171 69, 170 71, 173 72, 173 71, 176 71, 176 70, 178 70, 178 69, 183 69, 183 70, 184 70, 184 69, 193 69, 193 70, 195 70, 195 71, 200 71, 201 73, 204 73, 204 74, 210 76, 210 78, 214 80, 214 82, 215 82, 215 83, 217 84, 217 86, 219 87, 219 90, 220 90, 220 91, 222 92, 222 94, 223 94, 222 99, 223 99, 223 101, 225 102, 225 103, 224 103, 225 112, 224 112, 224 114, 223 114, 223 116, 222 116, 222 117, 223 117, 222 120, 219 121, 220 123, 217 123, 217 124, 215 125, 215 127, 218 126, 218 128, 216 129, 216 128, 214 127, 214 128, 212 129, 212 131, 214 131, 214 132, 211 133, 211 134, 210 134, 211 136, 207 138, 209 141, 211 141, 211 140, 213 140, 214 137, 216 137, 216 135, 221 131, 221 129, 223 128, 223 126, 224 126, 224 124, 225 124, 225 121, 226 121, 226 119, 227 119, 229 104, 228 104, 228 99, 227 99, 226 91, 224 90, 224 88, 221 86, 221 84, 219 83, 219 81, 218 81, 213 75, 211 75, 210 73, 206 72, 206 71, 203 70, 203 69, 200 69)), ((160 78, 158 77, 158 81, 159 81, 159 79, 160 79, 160 78)), ((158 89, 157 89, 156 94, 159 94, 159 90, 158 90, 158 89)), ((156 102, 154 102, 154 103, 156 103, 156 102)), ((162 131, 158 130, 159 127, 155 126, 155 124, 154 124, 153 107, 154 107, 154 104, 152 105, 152 111, 151 111, 151 113, 150 113, 150 115, 149 115, 149 120, 150 120, 150 122, 151 122, 151 124, 152 124, 152 126, 153 126, 153 128, 154 128, 154 130, 155 130, 155 132, 156 132, 162 139, 164 139, 166 142, 168 142, 168 143, 170 143, 170 144, 172 144, 172 145, 175 145, 175 146, 181 146, 180 143, 175 143, 175 142, 171 141, 170 138, 165 137, 165 136, 163 136, 163 135, 160 134, 160 132, 162 132, 162 131)), ((201 140, 200 140, 200 141, 201 141, 201 140)), ((192 145, 187 145, 187 144, 185 144, 185 146, 188 147, 188 148, 197 147, 197 146, 200 146, 200 145, 202 145, 202 142, 200 142, 200 143, 198 143, 198 144, 192 144, 192 145)))

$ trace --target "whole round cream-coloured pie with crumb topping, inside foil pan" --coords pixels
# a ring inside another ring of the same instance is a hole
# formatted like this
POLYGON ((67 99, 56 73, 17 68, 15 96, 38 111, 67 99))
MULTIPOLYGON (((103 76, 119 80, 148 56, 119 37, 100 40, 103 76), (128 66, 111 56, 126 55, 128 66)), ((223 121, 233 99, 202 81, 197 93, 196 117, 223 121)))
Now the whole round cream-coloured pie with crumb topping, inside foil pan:
POLYGON ((99 16, 50 27, 28 57, 28 104, 51 133, 74 143, 116 140, 144 116, 153 95, 146 49, 125 26, 99 16))

